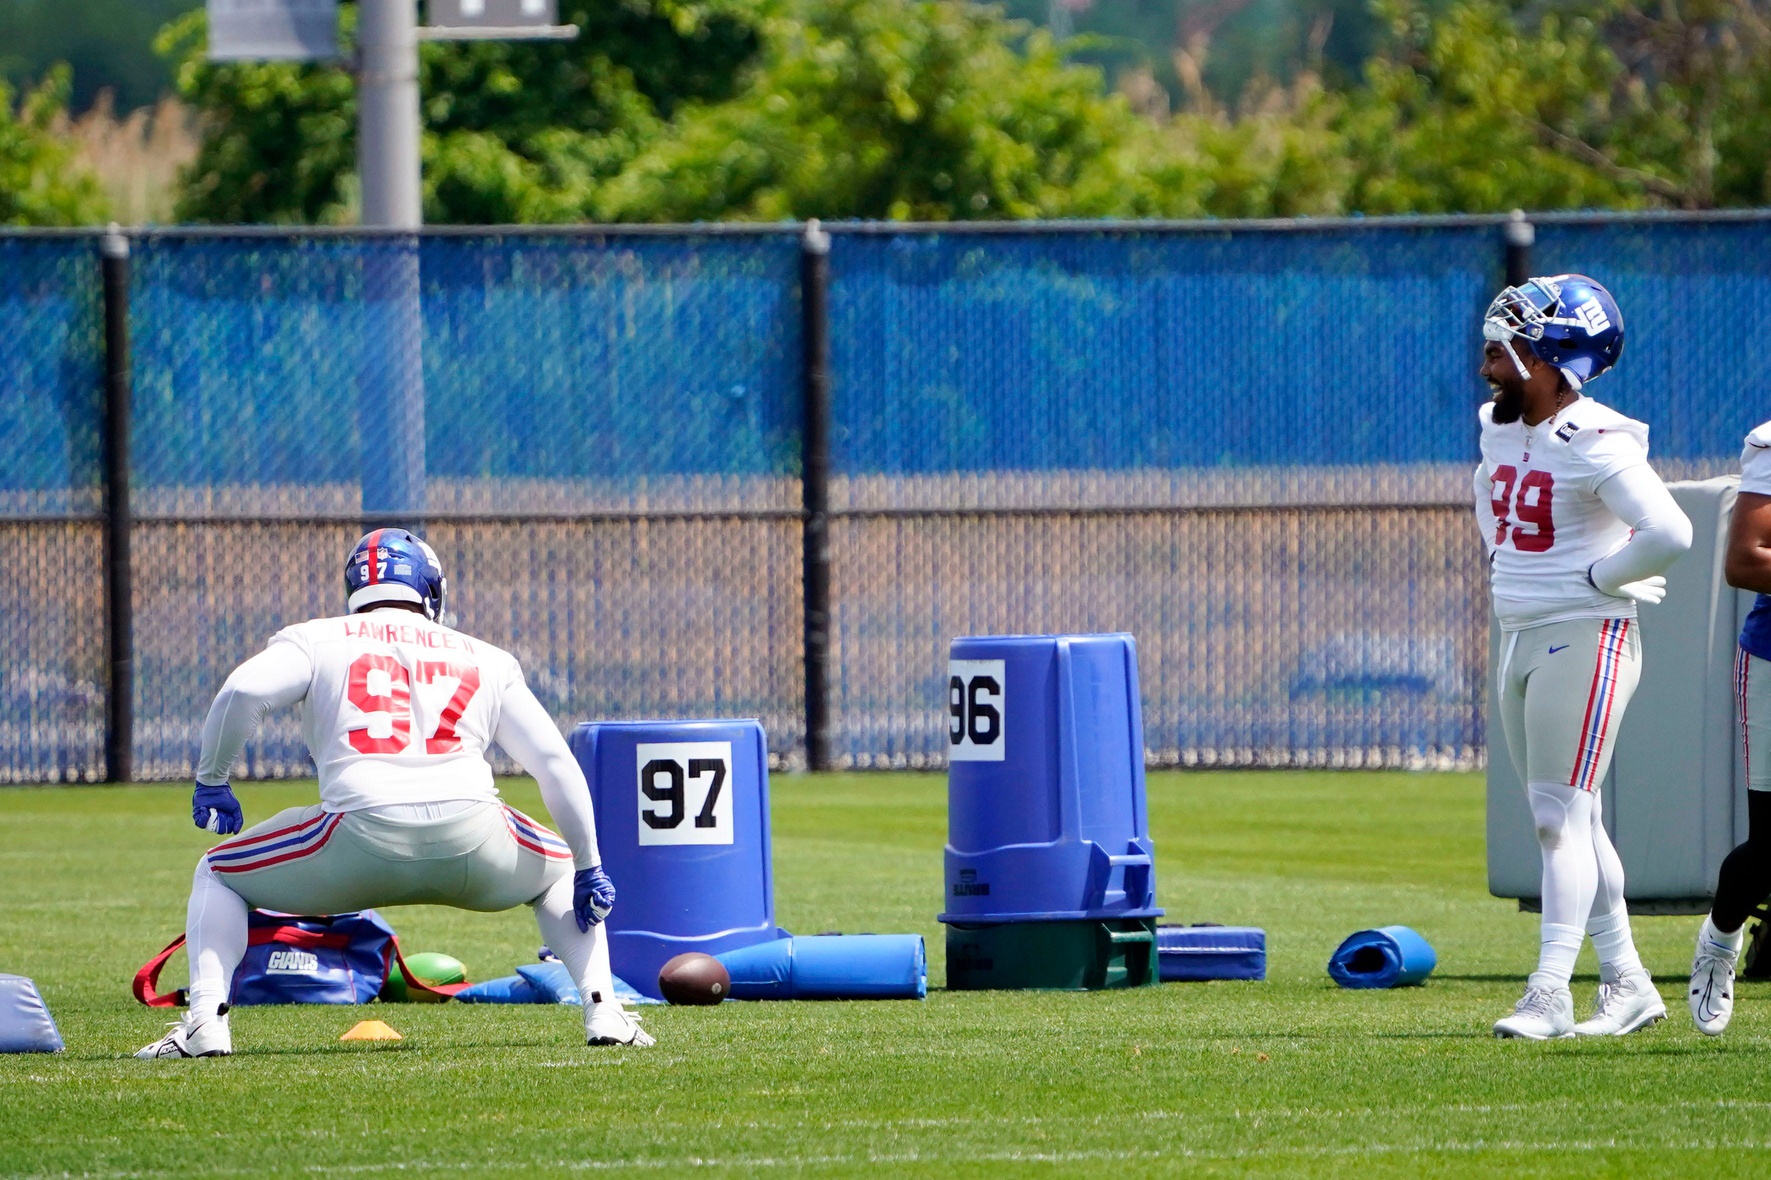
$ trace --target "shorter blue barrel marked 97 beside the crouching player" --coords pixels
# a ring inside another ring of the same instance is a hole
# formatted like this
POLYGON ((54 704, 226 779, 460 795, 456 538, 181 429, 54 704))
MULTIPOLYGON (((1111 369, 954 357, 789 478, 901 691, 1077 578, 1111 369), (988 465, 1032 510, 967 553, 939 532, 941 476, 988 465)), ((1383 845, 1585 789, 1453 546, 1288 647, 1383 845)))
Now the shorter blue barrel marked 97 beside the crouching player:
POLYGON ((781 937, 769 854, 769 746, 756 721, 593 721, 572 732, 615 879, 609 964, 659 998, 684 951, 781 937))

